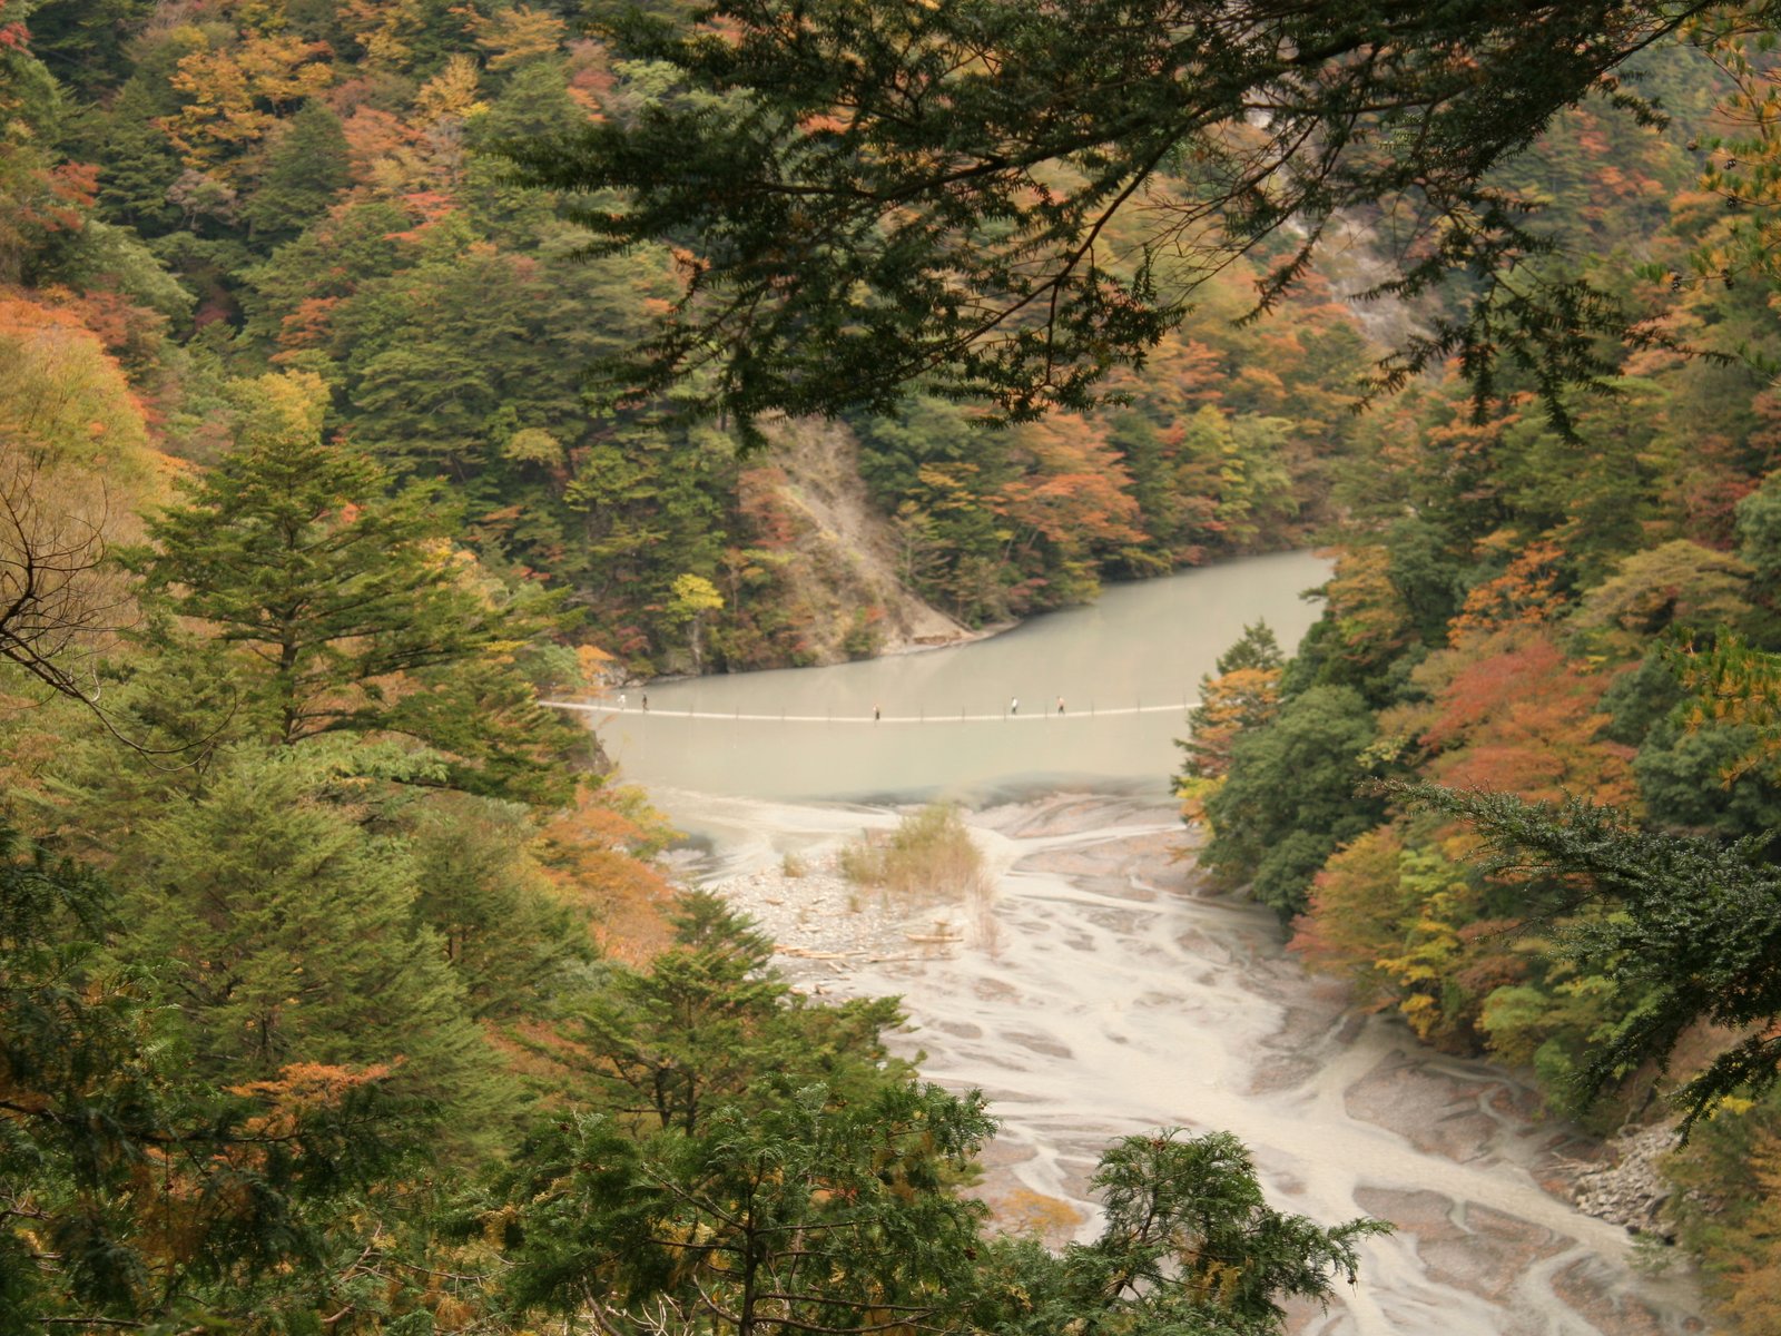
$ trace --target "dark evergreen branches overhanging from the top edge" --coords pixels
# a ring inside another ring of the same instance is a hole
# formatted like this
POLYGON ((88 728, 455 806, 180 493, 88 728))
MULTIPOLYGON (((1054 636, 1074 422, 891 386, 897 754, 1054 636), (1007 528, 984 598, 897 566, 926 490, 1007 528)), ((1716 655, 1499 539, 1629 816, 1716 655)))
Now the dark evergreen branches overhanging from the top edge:
POLYGON ((1660 118, 1630 61, 1765 5, 716 4, 613 32, 673 96, 516 146, 623 251, 680 246, 682 299, 611 363, 766 411, 892 410, 910 381, 1012 420, 1083 408, 1243 257, 1273 308, 1352 210, 1393 271, 1366 297, 1466 296, 1387 362, 1457 356, 1480 403, 1514 369, 1567 420, 1596 335, 1658 335, 1541 265, 1512 164, 1567 109, 1660 118))

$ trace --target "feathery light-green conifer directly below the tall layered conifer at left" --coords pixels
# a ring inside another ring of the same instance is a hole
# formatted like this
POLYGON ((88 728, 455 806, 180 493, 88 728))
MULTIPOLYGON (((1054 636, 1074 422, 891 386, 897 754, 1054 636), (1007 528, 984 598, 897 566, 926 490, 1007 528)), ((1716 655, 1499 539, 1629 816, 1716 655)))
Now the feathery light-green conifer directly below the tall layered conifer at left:
POLYGON ((419 917, 419 869, 331 798, 353 757, 240 750, 205 794, 125 839, 119 951, 171 960, 167 999, 212 1078, 290 1063, 372 1065, 458 1126, 490 1115, 493 1062, 445 944, 419 917))

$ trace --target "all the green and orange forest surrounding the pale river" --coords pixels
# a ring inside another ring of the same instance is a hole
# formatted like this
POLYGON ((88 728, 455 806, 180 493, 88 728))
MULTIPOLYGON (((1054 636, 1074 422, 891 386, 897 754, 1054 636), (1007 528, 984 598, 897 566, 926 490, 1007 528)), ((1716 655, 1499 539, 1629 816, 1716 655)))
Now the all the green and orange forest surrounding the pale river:
POLYGON ((5 0, 0 1327, 1279 1331, 1375 1226, 1158 1133, 996 1234, 980 1101, 538 702, 1320 536, 1206 868, 1555 1110, 1681 1087, 1772 1331, 1774 20, 5 0))

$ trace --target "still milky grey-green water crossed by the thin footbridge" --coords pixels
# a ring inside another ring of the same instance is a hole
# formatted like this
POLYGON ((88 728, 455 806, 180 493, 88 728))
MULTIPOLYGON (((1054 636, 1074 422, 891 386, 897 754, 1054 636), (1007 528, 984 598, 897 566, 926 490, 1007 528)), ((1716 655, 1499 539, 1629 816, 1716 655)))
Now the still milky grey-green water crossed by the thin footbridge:
POLYGON ((648 713, 632 689, 625 709, 613 695, 591 714, 622 777, 648 787, 972 805, 1161 794, 1200 675, 1256 620, 1291 650, 1320 611, 1300 595, 1327 574, 1309 552, 1243 558, 1115 586, 969 645, 657 684, 648 713))

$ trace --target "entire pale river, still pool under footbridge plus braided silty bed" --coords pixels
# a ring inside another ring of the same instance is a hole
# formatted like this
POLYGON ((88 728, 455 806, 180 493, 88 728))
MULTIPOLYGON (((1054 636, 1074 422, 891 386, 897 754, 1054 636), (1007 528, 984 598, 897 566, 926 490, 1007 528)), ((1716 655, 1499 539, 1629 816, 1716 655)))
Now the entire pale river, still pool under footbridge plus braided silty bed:
POLYGON ((687 876, 766 882, 773 905, 801 892, 787 853, 819 862, 935 796, 965 807, 994 889, 956 932, 782 964, 832 996, 899 994, 924 1074, 988 1096, 980 1192, 1003 1218, 1092 1236, 1102 1145, 1222 1128, 1275 1206, 1396 1226, 1362 1245, 1359 1284, 1295 1311, 1302 1336, 1708 1331, 1679 1263, 1640 1268, 1624 1229, 1569 1204, 1596 1147, 1514 1072, 1352 1014, 1268 910, 1204 889, 1168 798, 1184 707, 1247 622, 1295 645, 1323 579, 1309 554, 1232 561, 969 645, 655 684, 648 711, 632 689, 590 718, 693 837, 687 876))

